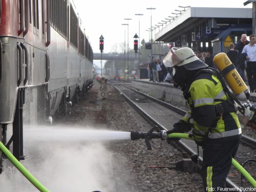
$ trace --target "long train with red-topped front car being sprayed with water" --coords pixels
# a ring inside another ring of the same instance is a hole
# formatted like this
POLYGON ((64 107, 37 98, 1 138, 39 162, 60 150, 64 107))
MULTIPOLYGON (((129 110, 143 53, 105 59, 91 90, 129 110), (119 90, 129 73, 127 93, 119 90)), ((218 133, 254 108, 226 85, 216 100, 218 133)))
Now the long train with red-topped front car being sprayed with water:
POLYGON ((0 0, 0 141, 19 161, 24 123, 71 113, 92 85, 93 51, 72 0, 0 0))

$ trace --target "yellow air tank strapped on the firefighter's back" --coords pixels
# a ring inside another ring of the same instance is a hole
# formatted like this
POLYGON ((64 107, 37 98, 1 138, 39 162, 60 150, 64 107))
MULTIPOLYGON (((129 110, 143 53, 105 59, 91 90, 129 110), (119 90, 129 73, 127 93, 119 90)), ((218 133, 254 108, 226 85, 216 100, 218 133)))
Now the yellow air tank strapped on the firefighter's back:
POLYGON ((219 53, 213 58, 213 62, 227 81, 237 99, 240 101, 247 101, 250 97, 250 91, 237 72, 237 69, 235 69, 235 65, 231 63, 228 55, 219 53))

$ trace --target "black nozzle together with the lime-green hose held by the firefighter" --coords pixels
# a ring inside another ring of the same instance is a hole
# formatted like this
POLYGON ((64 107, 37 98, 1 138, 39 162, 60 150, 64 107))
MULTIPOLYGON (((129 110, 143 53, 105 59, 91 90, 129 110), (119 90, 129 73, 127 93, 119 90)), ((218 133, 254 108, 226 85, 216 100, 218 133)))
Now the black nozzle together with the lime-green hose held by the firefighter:
MULTIPOLYGON (((154 130, 158 129, 157 126, 152 127, 148 132, 139 132, 139 131, 132 131, 130 133, 131 140, 139 140, 145 139, 147 149, 151 150, 152 145, 150 143, 151 139, 161 139, 166 140, 167 138, 183 138, 193 140, 192 134, 187 133, 170 133, 167 134, 166 130, 161 130, 160 132, 154 132, 154 130)), ((232 165, 237 168, 237 170, 246 178, 253 187, 256 187, 256 181, 254 178, 234 159, 232 158, 232 165)))

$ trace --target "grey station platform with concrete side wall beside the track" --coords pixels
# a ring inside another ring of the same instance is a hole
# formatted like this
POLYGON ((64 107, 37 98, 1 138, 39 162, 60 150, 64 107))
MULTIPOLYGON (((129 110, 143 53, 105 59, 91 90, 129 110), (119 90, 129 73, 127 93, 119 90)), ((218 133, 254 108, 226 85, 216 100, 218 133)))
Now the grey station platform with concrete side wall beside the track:
MULTIPOLYGON (((186 107, 183 92, 180 88, 175 88, 172 83, 158 83, 149 81, 149 79, 133 79, 130 85, 132 88, 147 93, 160 100, 176 103, 177 106, 186 107)), ((256 93, 250 94, 250 102, 256 103, 256 93)))

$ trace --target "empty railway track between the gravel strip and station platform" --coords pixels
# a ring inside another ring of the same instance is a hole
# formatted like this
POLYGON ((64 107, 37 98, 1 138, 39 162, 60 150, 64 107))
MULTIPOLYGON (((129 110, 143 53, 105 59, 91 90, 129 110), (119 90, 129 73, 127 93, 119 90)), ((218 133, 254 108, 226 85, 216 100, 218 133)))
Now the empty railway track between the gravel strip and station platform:
MULTIPOLYGON (((186 111, 171 104, 158 100, 145 93, 130 88, 128 84, 108 80, 116 90, 126 98, 126 100, 152 125, 157 125, 161 130, 168 130, 173 123, 180 119, 186 111)), ((190 140, 181 139, 180 145, 190 154, 197 154, 197 145, 190 140)), ((202 162, 202 150, 199 149, 199 163, 202 162)), ((235 159, 239 164, 244 164, 248 159, 256 159, 256 140, 246 135, 242 135, 235 159)), ((253 178, 256 178, 256 162, 249 161, 245 163, 246 170, 253 178)), ((234 166, 228 174, 227 185, 230 187, 241 187, 241 174, 234 166)), ((243 187, 252 187, 252 185, 243 180, 243 187)))

